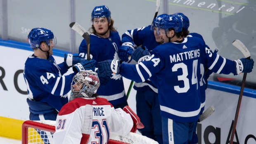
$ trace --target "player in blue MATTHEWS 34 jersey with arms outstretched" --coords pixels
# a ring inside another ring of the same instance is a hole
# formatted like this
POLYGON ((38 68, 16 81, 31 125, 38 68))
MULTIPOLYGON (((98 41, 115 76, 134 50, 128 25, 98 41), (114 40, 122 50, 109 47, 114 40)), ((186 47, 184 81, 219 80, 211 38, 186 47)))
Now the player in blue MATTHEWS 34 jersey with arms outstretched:
MULTIPOLYGON (((214 61, 203 40, 182 38, 183 24, 176 15, 168 15, 159 22, 157 32, 164 44, 157 46, 152 55, 139 64, 119 64, 119 61, 103 61, 98 68, 104 73, 120 73, 137 82, 144 82, 151 76, 157 77, 159 103, 162 116, 164 144, 187 144, 201 110, 200 62, 217 72, 221 65, 214 61), (213 68, 211 68, 213 66, 213 68)), ((251 72, 253 65, 233 62, 234 74, 251 72), (247 65, 247 66, 245 66, 247 65), (245 66, 245 67, 244 67, 245 66)))

